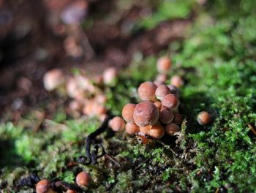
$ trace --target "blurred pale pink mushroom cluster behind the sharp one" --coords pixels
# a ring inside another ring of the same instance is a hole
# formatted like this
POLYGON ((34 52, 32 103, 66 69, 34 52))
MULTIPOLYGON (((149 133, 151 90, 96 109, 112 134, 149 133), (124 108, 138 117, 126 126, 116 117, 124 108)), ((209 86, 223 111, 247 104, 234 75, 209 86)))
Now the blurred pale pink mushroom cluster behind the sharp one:
POLYGON ((102 75, 89 76, 64 75, 61 69, 52 69, 45 73, 43 84, 47 91, 59 91, 67 94, 72 100, 69 102, 69 113, 72 115, 97 116, 100 120, 106 117, 107 100, 105 86, 115 86, 117 72, 114 67, 105 69, 102 75))

